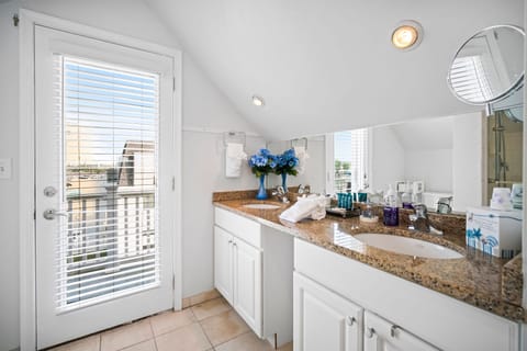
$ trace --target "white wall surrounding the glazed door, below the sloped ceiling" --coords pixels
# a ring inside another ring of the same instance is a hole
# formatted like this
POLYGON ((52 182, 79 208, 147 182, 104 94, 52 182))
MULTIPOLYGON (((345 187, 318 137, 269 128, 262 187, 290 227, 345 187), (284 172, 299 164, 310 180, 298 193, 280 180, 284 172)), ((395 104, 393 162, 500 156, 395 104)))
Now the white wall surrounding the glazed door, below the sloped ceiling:
MULTIPOLYGON (((13 159, 11 180, 0 180, 0 350, 19 346, 19 227, 18 227, 18 29, 11 16, 25 8, 94 27, 154 43, 179 47, 173 34, 141 0, 47 0, 0 2, 0 158, 13 159)), ((226 128, 255 133, 203 76, 192 59, 183 56, 183 128, 226 128)), ((217 134, 183 133, 183 296, 212 288, 212 206, 214 189, 256 188, 249 174, 240 181, 224 181, 213 146, 217 134), (199 152, 198 152, 199 150, 199 152), (195 157, 199 155, 200 157, 195 157), (250 186, 249 186, 250 185, 250 186), (198 217, 198 215, 201 215, 198 217), (205 222, 203 216, 206 217, 205 222)), ((255 149, 264 146, 249 139, 255 149)))

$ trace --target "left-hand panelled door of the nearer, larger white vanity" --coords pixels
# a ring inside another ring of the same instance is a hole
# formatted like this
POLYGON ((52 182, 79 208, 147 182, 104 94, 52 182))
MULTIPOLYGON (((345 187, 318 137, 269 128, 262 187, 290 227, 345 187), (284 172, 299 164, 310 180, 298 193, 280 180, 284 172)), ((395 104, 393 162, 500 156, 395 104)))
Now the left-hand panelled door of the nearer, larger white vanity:
POLYGON ((362 308, 293 273, 295 351, 362 350, 362 308))

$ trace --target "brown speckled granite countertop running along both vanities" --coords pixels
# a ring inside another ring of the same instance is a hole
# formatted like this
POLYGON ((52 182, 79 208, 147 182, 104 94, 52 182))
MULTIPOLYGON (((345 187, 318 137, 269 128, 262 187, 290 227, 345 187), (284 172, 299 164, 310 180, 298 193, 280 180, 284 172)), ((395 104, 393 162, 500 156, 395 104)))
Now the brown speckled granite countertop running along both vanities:
MULTIPOLYGON (((304 219, 294 224, 279 218, 280 213, 290 204, 267 201, 280 205, 280 208, 255 210, 244 207, 244 204, 257 201, 243 197, 238 195, 234 197, 236 200, 224 200, 224 196, 214 195, 213 201, 215 206, 495 315, 515 321, 527 321, 520 299, 523 288, 520 258, 498 259, 467 247, 464 228, 458 229, 457 233, 450 228, 450 230, 445 230, 444 236, 433 236, 407 230, 407 227, 403 225, 399 227, 386 227, 382 223, 365 225, 359 222, 358 217, 340 218, 336 216, 326 216, 322 220, 304 219), (393 253, 355 239, 352 236, 359 233, 384 233, 431 241, 462 253, 463 258, 426 259, 393 253)), ((444 229, 440 226, 439 228, 444 229)))

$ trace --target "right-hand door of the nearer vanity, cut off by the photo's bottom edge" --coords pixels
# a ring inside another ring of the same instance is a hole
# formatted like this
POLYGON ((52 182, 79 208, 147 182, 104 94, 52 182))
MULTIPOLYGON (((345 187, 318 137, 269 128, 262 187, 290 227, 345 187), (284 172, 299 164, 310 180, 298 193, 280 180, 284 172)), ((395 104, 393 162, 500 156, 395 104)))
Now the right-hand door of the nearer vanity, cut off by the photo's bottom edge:
POLYGON ((365 351, 437 351, 401 327, 370 313, 365 313, 365 351))

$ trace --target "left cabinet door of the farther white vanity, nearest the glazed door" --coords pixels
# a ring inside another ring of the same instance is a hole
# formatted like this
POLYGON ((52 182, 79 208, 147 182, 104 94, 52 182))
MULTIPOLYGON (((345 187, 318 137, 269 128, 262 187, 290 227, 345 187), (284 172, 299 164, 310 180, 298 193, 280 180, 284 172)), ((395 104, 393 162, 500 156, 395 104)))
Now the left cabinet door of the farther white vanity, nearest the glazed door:
POLYGON ((233 236, 214 226, 214 286, 233 304, 233 236))

